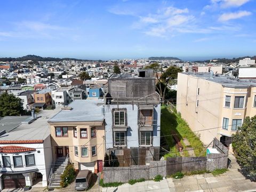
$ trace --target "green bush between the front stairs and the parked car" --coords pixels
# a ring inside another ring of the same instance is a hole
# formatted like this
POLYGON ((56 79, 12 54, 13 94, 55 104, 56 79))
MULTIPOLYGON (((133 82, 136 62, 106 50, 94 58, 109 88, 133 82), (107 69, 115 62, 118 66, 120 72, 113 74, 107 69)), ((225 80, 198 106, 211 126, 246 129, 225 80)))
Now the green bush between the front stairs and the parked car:
POLYGON ((76 178, 76 170, 73 164, 68 164, 60 176, 60 186, 67 187, 76 178))

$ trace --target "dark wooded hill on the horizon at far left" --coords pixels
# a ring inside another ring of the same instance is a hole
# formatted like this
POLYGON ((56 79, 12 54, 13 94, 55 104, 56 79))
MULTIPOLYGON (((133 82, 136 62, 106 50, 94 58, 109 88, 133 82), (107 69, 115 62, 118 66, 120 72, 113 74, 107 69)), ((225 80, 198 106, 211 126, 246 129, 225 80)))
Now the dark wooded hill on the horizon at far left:
POLYGON ((40 57, 37 55, 26 55, 19 58, 0 58, 0 61, 27 61, 27 60, 33 60, 33 61, 62 61, 62 60, 81 60, 81 59, 73 59, 73 58, 52 58, 52 57, 40 57))

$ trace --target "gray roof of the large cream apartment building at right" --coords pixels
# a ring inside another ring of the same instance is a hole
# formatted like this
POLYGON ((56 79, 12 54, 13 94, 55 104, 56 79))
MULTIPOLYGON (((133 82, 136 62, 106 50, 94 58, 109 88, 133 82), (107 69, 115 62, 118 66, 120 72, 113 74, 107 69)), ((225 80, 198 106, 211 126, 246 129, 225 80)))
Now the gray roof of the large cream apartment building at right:
POLYGON ((183 74, 195 76, 198 78, 206 79, 207 81, 212 81, 215 83, 220 83, 223 86, 256 86, 256 81, 254 79, 238 79, 238 78, 231 78, 229 76, 222 76, 222 75, 213 75, 213 78, 210 78, 210 73, 185 73, 183 74))

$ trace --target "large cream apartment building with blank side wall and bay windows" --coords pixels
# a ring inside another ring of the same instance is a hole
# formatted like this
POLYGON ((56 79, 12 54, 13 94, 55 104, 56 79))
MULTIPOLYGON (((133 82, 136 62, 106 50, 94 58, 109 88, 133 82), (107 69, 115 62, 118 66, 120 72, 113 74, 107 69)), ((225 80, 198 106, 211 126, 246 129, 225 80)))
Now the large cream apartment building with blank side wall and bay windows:
POLYGON ((177 111, 200 139, 228 147, 246 116, 256 115, 256 81, 213 73, 179 73, 177 111))

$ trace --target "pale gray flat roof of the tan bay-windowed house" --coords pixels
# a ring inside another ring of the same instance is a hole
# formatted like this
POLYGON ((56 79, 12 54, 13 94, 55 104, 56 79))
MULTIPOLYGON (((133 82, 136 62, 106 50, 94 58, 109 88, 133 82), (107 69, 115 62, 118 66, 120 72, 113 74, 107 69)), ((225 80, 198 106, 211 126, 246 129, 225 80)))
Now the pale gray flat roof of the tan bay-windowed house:
POLYGON ((72 110, 61 110, 48 122, 101 122, 104 119, 102 99, 75 100, 68 107, 72 110))

